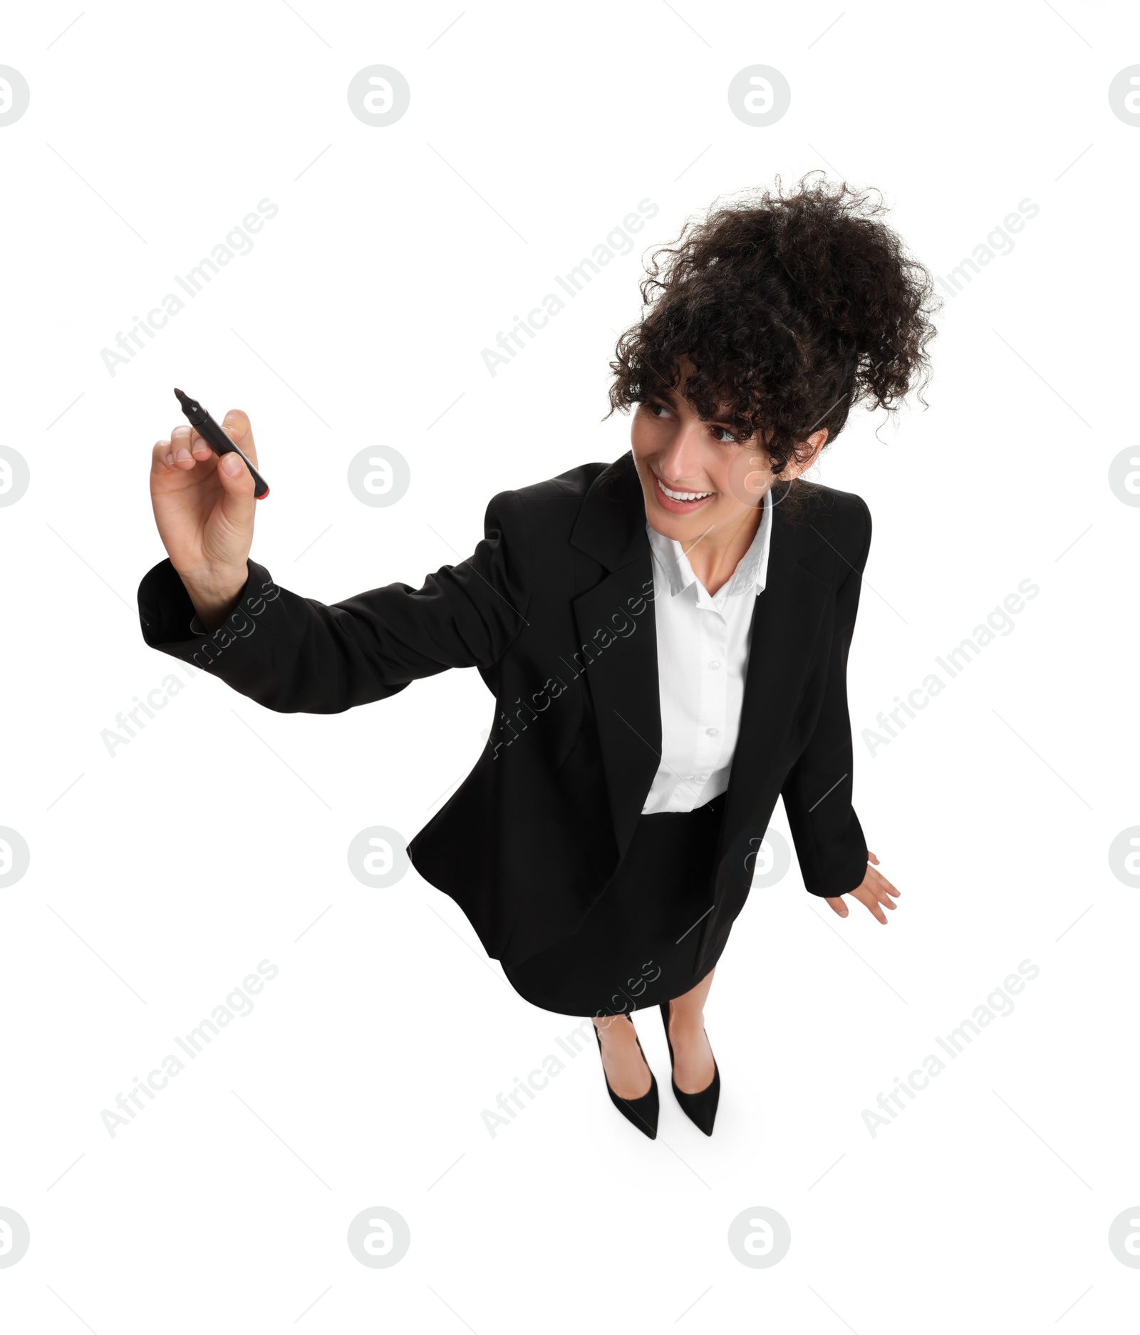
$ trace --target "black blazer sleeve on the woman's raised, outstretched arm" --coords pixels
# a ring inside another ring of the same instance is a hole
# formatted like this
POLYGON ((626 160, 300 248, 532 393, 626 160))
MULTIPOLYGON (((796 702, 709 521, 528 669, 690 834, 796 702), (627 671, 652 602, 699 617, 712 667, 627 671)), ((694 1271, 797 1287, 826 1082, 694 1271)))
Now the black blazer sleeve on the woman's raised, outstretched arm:
POLYGON ((338 714, 447 668, 489 668, 526 625, 531 549, 518 493, 491 498, 483 533, 471 557, 419 589, 390 583, 330 605, 280 587, 250 561, 234 611, 200 635, 167 558, 139 585, 143 639, 279 713, 338 714))

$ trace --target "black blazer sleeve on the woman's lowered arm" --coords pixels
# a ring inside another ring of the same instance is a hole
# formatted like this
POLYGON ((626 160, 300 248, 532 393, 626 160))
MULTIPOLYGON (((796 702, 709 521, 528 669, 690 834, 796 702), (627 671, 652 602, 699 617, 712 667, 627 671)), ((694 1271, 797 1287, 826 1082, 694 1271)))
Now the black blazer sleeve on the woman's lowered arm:
MULTIPOLYGON (((870 510, 858 499, 865 529, 857 555, 836 590, 832 646, 818 668, 822 702, 808 745, 781 789, 804 884, 824 898, 846 894, 862 884, 868 861, 866 840, 852 806, 854 765, 846 686, 848 650, 870 551, 870 510)), ((813 694, 817 692, 818 686, 813 694)))

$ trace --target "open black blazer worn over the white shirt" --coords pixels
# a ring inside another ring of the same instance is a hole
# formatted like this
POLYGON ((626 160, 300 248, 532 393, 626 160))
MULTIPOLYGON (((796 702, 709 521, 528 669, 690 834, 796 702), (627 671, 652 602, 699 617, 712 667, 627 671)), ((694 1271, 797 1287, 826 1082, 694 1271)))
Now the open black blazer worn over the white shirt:
MULTIPOLYGON (((698 973, 744 906, 784 796, 813 894, 853 890, 866 841, 852 808, 846 658, 870 547, 850 493, 800 481, 773 511, 716 869, 694 886, 698 973), (701 893, 703 898, 701 898, 701 893)), ((139 586, 143 638, 280 713, 332 714, 418 677, 478 668, 495 717, 475 768, 407 852, 506 964, 573 933, 625 853, 661 753, 653 565, 626 453, 501 491, 474 554, 420 589, 326 606, 250 561, 236 610, 194 635, 170 561, 139 586)))

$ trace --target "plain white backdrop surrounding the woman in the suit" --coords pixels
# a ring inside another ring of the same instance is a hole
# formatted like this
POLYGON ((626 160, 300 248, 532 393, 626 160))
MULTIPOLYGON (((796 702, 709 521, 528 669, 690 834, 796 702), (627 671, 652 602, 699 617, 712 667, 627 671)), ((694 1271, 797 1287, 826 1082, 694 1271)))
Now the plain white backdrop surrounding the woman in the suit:
POLYGON ((1140 1202, 1140 906, 1108 850, 1140 822, 1140 510, 1108 470, 1137 443, 1140 128, 1108 85, 1140 61, 1136 13, 76 12, 9 11, 0 43, 31 87, 0 128, 0 445, 31 469, 0 509, 0 825, 31 849, 0 889, 0 1206, 31 1228, 0 1268, 5 1327, 1124 1328, 1140 1272, 1108 1230, 1140 1202), (376 63, 411 85, 386 128, 346 96, 376 63), (757 63, 792 87, 766 128, 726 97, 757 63), (716 1132, 673 1101, 646 1013, 649 1141, 589 1031, 569 1057, 575 1023, 519 999, 446 896, 350 872, 359 830, 410 838, 474 764, 475 672, 327 717, 199 674, 108 753, 119 712, 187 677, 139 633, 163 555, 150 453, 182 421, 174 384, 219 419, 246 409, 275 579, 326 602, 418 587, 470 553, 494 493, 627 449, 627 419, 599 419, 642 252, 718 196, 820 167, 882 190, 938 275, 1020 200, 1040 211, 945 299, 929 409, 857 410, 813 474, 874 518, 856 805, 900 906, 886 928, 858 905, 840 921, 794 862, 754 890, 706 1011, 716 1132), (101 350, 266 198, 252 251, 111 375, 101 350), (490 375, 482 348, 642 199, 659 212, 629 252, 490 375), (390 509, 346 483, 375 445, 411 467, 390 509), (862 730, 1024 579, 1040 594, 1012 631, 872 756, 862 730), (109 1136, 101 1111, 260 960, 279 975, 254 1012, 109 1136), (872 1136, 864 1109, 1023 960, 1040 973, 1015 1011, 872 1136), (491 1136, 483 1109, 550 1053, 565 1069, 491 1136), (390 1268, 346 1244, 374 1206, 411 1231, 390 1268), (792 1231, 772 1268, 728 1246, 760 1206, 792 1231))

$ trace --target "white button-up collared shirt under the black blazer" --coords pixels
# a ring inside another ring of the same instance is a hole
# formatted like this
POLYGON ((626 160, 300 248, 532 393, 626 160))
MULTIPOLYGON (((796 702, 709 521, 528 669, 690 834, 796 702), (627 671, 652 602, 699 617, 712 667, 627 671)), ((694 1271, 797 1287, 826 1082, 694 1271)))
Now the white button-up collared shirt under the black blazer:
POLYGON ((729 786, 752 646, 752 614, 768 582, 772 495, 752 546, 709 594, 675 538, 645 522, 653 549, 661 765, 642 816, 691 812, 729 786))

